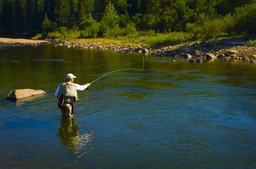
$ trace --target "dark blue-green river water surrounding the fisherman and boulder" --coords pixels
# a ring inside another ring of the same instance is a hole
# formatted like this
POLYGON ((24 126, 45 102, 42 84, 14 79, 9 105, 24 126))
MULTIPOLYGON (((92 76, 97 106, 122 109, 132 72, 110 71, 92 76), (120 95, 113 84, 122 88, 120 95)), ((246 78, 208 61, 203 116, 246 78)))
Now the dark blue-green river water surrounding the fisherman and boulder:
POLYGON ((0 168, 256 168, 256 64, 149 54, 143 71, 79 91, 61 120, 54 93, 67 73, 84 85, 142 69, 142 55, 0 46, 0 168), (26 88, 47 94, 6 101, 26 88))

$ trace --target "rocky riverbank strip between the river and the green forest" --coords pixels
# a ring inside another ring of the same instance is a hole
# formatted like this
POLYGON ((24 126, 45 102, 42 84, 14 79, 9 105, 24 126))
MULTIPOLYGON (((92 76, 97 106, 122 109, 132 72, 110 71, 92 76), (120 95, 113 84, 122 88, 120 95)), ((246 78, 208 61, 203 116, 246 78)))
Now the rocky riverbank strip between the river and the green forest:
MULTIPOLYGON (((56 42, 52 39, 10 39, 0 38, 2 43, 42 43, 56 42)), ((199 59, 214 59, 216 57, 223 60, 229 59, 246 59, 254 62, 256 58, 256 47, 247 46, 246 41, 241 39, 220 38, 207 42, 186 42, 178 45, 162 45, 156 47, 147 47, 135 43, 124 43, 116 39, 75 39, 58 41, 55 46, 66 46, 67 48, 88 48, 99 50, 112 50, 116 52, 145 52, 157 56, 187 57, 199 59)), ((192 59, 191 62, 196 62, 192 59)))

